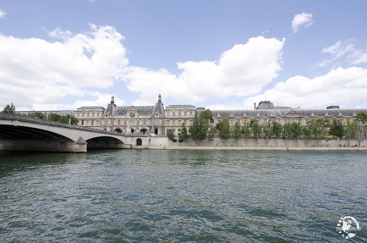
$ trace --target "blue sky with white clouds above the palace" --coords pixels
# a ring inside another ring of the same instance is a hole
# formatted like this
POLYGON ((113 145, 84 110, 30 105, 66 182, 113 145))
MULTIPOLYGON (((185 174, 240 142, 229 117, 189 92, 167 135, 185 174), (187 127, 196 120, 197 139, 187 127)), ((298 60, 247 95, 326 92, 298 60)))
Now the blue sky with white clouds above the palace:
POLYGON ((0 106, 367 107, 366 1, 0 1, 0 106))

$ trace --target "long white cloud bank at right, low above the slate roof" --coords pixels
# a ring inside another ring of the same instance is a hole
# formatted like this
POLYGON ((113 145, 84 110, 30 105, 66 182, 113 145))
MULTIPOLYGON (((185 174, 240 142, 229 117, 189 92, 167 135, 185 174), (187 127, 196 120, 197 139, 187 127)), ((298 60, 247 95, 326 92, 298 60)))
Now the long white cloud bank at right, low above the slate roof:
POLYGON ((337 68, 323 76, 309 79, 294 76, 279 82, 263 94, 244 99, 244 108, 253 109, 254 102, 269 100, 274 105, 297 108, 326 107, 327 105, 352 105, 366 101, 367 69, 337 68))

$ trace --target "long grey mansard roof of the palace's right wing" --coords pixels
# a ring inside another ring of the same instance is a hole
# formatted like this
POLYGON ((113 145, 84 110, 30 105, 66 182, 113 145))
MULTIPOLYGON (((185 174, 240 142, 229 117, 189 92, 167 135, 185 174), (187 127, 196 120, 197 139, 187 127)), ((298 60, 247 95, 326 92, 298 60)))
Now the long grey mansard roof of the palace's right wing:
POLYGON ((230 117, 231 114, 233 114, 233 117, 235 116, 241 116, 243 117, 244 114, 246 116, 287 116, 287 113, 290 111, 297 112, 298 116, 325 116, 327 113, 327 116, 340 116, 339 113, 341 113, 342 116, 353 116, 354 114, 357 114, 359 112, 367 113, 367 109, 267 109, 267 110, 211 110, 214 117, 219 116, 228 116, 230 117), (272 114, 272 115, 271 115, 272 114))

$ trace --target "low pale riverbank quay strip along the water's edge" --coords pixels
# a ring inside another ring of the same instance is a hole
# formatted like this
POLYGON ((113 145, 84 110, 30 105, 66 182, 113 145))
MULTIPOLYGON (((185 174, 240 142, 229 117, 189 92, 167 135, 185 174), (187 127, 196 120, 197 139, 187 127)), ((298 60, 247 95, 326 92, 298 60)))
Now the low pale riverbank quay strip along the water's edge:
MULTIPOLYGON (((137 147, 138 148, 138 147, 137 147)), ((242 147, 242 146, 156 146, 148 149, 182 149, 182 150, 310 150, 310 151, 367 151, 366 147, 242 147)))

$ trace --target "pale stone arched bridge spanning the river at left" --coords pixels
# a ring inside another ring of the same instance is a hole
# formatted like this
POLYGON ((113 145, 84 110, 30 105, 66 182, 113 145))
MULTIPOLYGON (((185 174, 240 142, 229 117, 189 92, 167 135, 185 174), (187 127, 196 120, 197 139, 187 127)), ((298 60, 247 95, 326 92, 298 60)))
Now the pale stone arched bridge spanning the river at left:
POLYGON ((0 112, 0 150, 87 152, 87 148, 147 148, 150 134, 121 134, 0 112))

